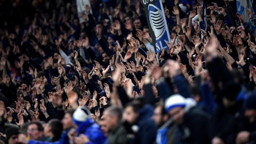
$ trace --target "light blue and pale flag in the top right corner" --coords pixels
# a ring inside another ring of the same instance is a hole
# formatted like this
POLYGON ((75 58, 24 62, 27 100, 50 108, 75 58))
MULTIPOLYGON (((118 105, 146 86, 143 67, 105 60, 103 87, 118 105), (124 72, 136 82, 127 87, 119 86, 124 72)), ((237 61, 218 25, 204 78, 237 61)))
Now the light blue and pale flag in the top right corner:
POLYGON ((252 10, 253 16, 255 16, 255 3, 255 0, 237 0, 237 13, 241 14, 244 21, 247 22, 254 29, 256 29, 256 26, 253 24, 253 21, 250 18, 247 9, 250 8, 252 10))

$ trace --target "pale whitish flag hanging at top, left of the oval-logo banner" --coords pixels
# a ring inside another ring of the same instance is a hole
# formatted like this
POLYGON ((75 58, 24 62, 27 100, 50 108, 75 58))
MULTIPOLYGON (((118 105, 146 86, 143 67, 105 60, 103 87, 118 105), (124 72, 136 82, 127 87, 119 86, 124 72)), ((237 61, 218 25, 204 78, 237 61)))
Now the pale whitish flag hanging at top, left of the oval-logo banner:
MULTIPOLYGON (((77 0, 77 13, 79 22, 83 23, 85 20, 83 19, 83 14, 86 14, 86 17, 88 18, 88 14, 85 10, 85 5, 89 5, 91 7, 90 0, 77 0)), ((92 9, 90 9, 90 13, 92 14, 92 9)))

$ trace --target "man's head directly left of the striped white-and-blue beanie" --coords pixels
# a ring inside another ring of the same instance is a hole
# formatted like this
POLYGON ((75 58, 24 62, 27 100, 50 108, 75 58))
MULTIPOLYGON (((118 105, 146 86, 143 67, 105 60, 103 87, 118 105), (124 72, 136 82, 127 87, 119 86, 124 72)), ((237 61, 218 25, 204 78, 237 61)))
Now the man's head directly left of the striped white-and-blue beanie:
POLYGON ((73 113, 74 113, 74 110, 68 110, 66 111, 64 117, 62 118, 61 123, 63 125, 64 130, 68 130, 74 127, 74 122, 72 119, 73 113))

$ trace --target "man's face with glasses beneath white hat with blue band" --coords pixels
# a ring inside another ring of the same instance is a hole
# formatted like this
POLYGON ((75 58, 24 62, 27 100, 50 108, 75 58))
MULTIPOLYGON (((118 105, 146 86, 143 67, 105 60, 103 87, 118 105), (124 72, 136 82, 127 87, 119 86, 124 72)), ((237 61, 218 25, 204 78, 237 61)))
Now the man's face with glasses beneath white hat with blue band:
POLYGON ((182 124, 183 122, 183 115, 184 115, 184 108, 182 107, 175 107, 169 111, 169 114, 173 118, 174 122, 177 124, 182 124))

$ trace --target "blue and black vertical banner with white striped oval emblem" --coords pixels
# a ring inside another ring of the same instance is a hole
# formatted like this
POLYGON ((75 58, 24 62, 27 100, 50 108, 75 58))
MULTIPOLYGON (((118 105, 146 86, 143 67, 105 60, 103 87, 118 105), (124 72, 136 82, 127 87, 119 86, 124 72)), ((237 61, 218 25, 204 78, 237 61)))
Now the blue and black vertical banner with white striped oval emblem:
POLYGON ((167 41, 171 42, 162 0, 143 0, 148 27, 155 48, 155 52, 168 49, 167 41))

